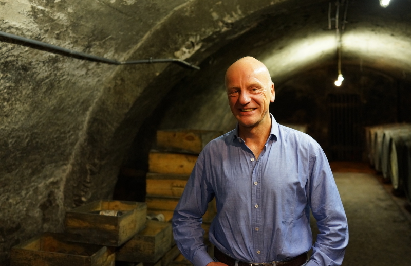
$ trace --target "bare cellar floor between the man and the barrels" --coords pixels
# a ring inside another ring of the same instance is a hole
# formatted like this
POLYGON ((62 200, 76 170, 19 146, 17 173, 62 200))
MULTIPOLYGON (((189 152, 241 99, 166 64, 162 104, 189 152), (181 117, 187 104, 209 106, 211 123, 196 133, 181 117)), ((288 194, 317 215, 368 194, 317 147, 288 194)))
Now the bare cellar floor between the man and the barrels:
MULTIPOLYGON (((331 163, 349 228, 343 266, 411 265, 411 214, 404 197, 367 164, 331 163)), ((315 221, 311 227, 318 232, 315 221)))

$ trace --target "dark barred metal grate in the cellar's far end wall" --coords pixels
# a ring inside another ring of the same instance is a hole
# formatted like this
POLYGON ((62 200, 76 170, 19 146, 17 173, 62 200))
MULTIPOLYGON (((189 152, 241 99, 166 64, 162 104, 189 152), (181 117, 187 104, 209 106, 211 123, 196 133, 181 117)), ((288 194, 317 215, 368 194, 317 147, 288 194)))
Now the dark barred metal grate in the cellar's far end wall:
POLYGON ((327 107, 330 159, 360 161, 362 158, 360 95, 329 94, 327 107))

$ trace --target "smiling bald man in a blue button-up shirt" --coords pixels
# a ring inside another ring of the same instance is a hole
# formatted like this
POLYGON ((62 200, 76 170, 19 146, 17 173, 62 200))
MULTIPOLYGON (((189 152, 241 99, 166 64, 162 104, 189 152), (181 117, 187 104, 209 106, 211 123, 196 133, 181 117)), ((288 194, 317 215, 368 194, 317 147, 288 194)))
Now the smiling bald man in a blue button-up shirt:
POLYGON ((263 63, 242 58, 227 69, 225 82, 237 127, 198 157, 173 216, 181 253, 195 266, 341 265, 347 219, 323 150, 269 113, 274 84, 263 63), (209 239, 215 260, 200 227, 214 197, 209 239), (307 262, 310 208, 320 234, 307 262))

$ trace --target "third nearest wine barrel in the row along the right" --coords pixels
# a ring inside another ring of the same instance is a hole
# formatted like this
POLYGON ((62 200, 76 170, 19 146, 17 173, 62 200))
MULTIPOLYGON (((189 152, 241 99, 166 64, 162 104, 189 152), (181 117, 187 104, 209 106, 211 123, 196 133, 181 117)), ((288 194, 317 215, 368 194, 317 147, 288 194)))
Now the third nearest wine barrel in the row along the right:
POLYGON ((391 155, 391 142, 394 139, 406 137, 411 132, 411 128, 408 125, 390 127, 383 131, 382 144, 381 144, 381 172, 384 179, 390 178, 389 166, 391 155))

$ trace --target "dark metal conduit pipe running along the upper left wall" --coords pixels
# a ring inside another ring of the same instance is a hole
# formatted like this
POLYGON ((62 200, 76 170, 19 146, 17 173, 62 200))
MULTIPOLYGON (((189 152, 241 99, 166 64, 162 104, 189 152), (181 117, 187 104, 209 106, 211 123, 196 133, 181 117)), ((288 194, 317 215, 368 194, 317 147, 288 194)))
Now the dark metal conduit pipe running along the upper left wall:
POLYGON ((98 57, 98 56, 93 56, 86 54, 85 52, 79 52, 79 51, 73 51, 70 49, 66 49, 60 46, 24 38, 21 36, 17 36, 14 34, 10 34, 4 31, 0 31, 0 41, 5 41, 6 40, 13 40, 15 41, 14 43, 28 46, 34 49, 39 49, 39 50, 45 50, 48 52, 52 52, 53 54, 59 54, 59 55, 64 55, 64 56, 69 56, 69 57, 74 57, 78 59, 84 59, 88 61, 95 61, 95 62, 101 62, 101 63, 106 63, 106 64, 112 64, 112 65, 134 65, 134 64, 150 64, 150 63, 176 63, 184 68, 193 68, 200 70, 200 67, 190 64, 189 62, 186 62, 181 59, 142 59, 142 60, 133 60, 133 61, 116 61, 104 57, 98 57))

